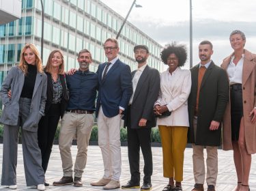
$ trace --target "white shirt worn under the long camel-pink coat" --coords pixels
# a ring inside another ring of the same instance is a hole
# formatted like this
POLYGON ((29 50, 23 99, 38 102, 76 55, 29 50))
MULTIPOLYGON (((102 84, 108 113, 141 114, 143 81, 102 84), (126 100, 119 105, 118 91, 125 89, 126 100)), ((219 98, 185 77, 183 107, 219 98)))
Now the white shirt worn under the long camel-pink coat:
POLYGON ((242 66, 244 63, 244 54, 237 64, 233 63, 235 56, 231 57, 230 63, 227 66, 227 74, 229 75, 229 84, 242 84, 242 66))

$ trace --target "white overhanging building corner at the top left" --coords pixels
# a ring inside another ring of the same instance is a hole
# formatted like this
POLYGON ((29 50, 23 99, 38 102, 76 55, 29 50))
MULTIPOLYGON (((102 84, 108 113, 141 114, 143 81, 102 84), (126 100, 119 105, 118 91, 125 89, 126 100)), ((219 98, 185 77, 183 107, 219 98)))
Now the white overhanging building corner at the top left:
POLYGON ((0 0, 0 25, 10 23, 20 17, 21 0, 0 0))

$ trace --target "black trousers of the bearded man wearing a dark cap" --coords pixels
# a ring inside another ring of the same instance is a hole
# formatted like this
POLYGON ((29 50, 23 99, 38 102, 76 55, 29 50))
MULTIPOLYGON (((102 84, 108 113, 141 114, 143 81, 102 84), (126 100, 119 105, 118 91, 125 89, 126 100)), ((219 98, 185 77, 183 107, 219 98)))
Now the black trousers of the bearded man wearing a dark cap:
POLYGON ((151 183, 153 172, 152 150, 151 150, 151 128, 132 129, 127 128, 128 134, 128 158, 130 164, 131 181, 139 183, 141 177, 139 172, 139 151, 144 158, 143 182, 151 183))

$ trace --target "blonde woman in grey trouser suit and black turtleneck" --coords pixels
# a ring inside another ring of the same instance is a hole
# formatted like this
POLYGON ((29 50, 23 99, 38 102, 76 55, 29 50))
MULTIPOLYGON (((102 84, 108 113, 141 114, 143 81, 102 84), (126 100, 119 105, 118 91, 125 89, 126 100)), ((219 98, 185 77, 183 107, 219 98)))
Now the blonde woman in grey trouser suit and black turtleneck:
POLYGON ((3 81, 0 96, 4 105, 3 167, 1 185, 16 189, 18 130, 21 127, 23 160, 27 186, 45 190, 41 151, 38 147, 38 122, 44 115, 46 102, 46 74, 34 44, 26 44, 20 63, 11 68, 3 81), (12 93, 12 96, 8 93, 12 93))

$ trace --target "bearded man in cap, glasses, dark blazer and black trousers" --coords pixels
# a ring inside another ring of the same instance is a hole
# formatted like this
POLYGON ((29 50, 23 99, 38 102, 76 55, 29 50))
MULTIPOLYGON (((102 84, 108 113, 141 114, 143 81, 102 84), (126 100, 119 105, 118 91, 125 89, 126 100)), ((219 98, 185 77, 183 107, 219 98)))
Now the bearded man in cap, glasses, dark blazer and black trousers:
POLYGON ((124 126, 128 132, 128 158, 130 164, 130 181, 123 189, 140 188, 139 152, 144 158, 144 178, 141 190, 151 190, 153 171, 151 151, 151 128, 156 126, 154 117, 154 102, 160 89, 160 74, 158 70, 147 65, 150 53, 145 45, 134 47, 134 57, 138 69, 132 72, 132 97, 124 116, 124 126))

